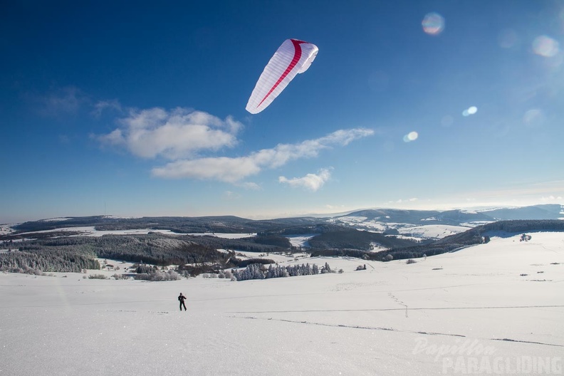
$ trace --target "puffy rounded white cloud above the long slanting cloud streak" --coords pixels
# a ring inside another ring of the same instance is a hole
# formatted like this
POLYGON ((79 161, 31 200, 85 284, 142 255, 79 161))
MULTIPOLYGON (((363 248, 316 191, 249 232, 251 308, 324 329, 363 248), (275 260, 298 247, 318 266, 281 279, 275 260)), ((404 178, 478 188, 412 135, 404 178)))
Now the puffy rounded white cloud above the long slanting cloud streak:
POLYGON ((98 140, 125 147, 137 157, 165 157, 178 160, 194 157, 202 150, 219 150, 236 145, 236 133, 243 126, 231 117, 219 117, 202 111, 176 108, 131 110, 121 119, 122 127, 98 140))

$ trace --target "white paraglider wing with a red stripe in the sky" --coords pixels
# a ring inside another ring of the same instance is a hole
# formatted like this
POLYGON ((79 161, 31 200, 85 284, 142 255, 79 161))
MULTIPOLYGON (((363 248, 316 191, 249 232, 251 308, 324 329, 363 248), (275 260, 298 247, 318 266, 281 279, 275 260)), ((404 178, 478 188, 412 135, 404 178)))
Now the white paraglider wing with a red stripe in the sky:
POLYGON ((258 78, 246 110, 256 114, 268 107, 296 74, 308 70, 317 53, 315 44, 286 39, 258 78))

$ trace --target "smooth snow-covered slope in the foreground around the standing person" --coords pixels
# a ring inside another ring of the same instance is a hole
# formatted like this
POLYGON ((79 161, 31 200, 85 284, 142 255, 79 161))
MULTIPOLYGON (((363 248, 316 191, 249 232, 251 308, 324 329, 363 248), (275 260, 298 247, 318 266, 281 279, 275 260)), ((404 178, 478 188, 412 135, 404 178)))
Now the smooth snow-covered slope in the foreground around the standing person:
POLYGON ((531 235, 261 281, 2 273, 0 375, 562 375, 564 234, 531 235))

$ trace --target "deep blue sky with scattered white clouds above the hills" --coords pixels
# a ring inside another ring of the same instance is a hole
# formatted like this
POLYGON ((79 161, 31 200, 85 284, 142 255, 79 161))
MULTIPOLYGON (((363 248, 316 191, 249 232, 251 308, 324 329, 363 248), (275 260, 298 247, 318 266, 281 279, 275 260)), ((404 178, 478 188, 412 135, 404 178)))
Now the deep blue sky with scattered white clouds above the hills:
POLYGON ((564 203, 562 1, 138 3, 0 6, 0 223, 564 203))

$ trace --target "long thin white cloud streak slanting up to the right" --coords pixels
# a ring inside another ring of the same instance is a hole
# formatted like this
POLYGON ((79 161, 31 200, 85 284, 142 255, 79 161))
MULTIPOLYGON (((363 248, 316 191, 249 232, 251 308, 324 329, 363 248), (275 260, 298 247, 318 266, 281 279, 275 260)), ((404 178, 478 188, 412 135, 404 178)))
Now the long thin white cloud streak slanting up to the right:
POLYGON ((258 174, 263 168, 281 167, 291 160, 317 157, 321 150, 333 146, 345 146, 352 140, 373 134, 373 130, 363 128, 338 130, 315 140, 305 140, 297 144, 279 144, 272 149, 259 150, 244 157, 177 160, 152 169, 152 174, 164 178, 213 179, 236 183, 258 174))

